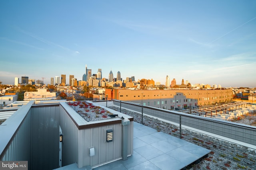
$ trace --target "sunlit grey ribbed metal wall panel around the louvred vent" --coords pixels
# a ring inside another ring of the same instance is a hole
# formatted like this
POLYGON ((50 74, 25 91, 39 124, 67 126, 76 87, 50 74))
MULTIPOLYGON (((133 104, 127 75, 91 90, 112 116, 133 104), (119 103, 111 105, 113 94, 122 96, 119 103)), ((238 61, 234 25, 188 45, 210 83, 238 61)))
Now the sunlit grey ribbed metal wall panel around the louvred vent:
POLYGON ((122 126, 120 123, 82 129, 79 131, 78 141, 81 142, 78 149, 78 168, 86 165, 98 166, 122 157, 122 126), (106 142, 107 129, 113 130, 113 142, 106 142), (89 156, 90 147, 94 147, 94 156, 89 156))

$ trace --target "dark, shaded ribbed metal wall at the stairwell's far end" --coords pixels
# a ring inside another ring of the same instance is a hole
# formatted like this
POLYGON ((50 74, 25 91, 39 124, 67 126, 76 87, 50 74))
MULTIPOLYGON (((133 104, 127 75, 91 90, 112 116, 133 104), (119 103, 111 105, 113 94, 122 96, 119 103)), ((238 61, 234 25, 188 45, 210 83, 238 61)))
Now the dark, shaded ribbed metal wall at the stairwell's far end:
POLYGON ((59 167, 60 107, 32 107, 31 169, 59 167))

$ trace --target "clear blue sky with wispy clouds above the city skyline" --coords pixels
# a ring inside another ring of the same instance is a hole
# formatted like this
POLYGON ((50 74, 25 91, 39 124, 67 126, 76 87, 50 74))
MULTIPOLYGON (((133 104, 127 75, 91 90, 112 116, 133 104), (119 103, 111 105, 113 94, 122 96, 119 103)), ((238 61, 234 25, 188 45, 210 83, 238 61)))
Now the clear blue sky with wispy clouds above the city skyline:
POLYGON ((135 76, 256 87, 255 0, 0 2, 0 81, 135 76))

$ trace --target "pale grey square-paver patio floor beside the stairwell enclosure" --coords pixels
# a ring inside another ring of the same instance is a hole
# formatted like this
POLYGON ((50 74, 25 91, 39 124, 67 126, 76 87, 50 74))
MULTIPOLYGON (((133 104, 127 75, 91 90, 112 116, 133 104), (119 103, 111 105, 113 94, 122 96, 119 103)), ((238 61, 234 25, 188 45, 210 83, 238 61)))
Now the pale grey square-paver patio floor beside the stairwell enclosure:
POLYGON ((117 160, 93 170, 180 170, 210 150, 134 122, 134 149, 127 160, 117 160))

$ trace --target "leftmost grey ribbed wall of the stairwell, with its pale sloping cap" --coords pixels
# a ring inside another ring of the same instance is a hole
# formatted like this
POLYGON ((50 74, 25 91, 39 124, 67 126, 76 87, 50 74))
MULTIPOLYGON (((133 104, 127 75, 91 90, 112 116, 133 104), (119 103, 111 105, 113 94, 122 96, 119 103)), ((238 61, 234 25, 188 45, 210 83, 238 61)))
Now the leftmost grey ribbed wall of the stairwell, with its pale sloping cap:
MULTIPOLYGON (((0 160, 30 161, 31 110, 33 102, 18 109, 0 127, 0 160)), ((30 165, 28 165, 30 169, 30 165)))

